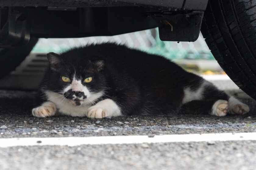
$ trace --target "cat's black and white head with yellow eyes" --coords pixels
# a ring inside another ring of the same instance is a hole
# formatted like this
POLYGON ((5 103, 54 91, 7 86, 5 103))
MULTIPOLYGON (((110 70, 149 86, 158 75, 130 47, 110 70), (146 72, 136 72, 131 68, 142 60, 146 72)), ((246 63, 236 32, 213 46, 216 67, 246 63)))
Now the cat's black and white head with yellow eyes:
MULTIPOLYGON (((43 80, 47 87, 44 89, 58 94, 59 100, 80 106, 93 103, 104 94, 104 60, 70 53, 48 53, 47 58, 50 69, 43 80)), ((51 100, 51 96, 48 98, 51 100)))

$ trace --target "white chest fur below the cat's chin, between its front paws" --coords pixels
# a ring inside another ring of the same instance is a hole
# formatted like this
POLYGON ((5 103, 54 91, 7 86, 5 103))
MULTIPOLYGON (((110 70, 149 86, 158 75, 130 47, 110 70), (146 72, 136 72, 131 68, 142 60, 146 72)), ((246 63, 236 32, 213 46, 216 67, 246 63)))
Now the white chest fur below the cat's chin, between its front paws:
POLYGON ((63 98, 62 95, 52 91, 45 92, 49 101, 53 102, 61 114, 69 116, 85 116, 91 104, 74 106, 67 99, 63 98))

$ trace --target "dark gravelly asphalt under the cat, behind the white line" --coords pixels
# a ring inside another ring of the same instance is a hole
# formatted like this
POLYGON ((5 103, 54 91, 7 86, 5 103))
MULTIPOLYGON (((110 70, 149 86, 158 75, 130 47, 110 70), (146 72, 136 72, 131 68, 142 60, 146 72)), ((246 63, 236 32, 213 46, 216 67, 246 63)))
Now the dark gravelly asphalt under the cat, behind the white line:
POLYGON ((250 112, 244 115, 132 115, 91 119, 31 115, 35 92, 0 90, 0 138, 255 132, 255 100, 233 91, 250 112))

